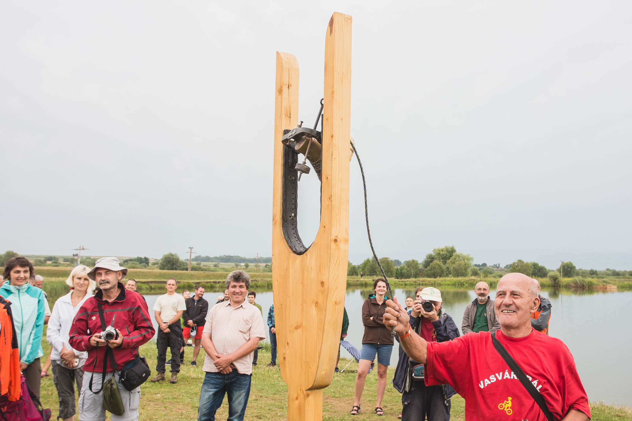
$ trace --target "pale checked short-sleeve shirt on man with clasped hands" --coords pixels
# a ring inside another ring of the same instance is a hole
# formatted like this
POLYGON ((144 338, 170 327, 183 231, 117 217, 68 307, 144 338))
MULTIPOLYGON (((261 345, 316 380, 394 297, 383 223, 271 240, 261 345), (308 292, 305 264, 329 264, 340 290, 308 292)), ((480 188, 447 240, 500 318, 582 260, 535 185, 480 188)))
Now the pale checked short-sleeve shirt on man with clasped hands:
MULTIPOLYGON (((265 339, 261 313, 246 300, 237 307, 233 307, 230 300, 214 305, 206 316, 204 333, 210 333, 210 340, 213 341, 217 353, 222 355, 230 355, 255 336, 265 339)), ((254 353, 251 352, 234 360, 233 364, 240 374, 252 374, 253 358, 254 353)), ((209 355, 204 359, 203 369, 219 372, 209 355)))

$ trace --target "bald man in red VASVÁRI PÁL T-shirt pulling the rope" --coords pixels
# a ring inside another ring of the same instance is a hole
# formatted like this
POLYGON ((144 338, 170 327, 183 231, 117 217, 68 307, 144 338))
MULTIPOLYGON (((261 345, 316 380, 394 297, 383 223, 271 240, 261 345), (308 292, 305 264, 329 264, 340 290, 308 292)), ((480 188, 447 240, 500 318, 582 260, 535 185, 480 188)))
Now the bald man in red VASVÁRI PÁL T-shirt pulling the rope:
POLYGON ((427 342, 411 331, 410 317, 397 299, 387 302, 384 324, 395 329, 411 359, 425 364, 427 386, 451 384, 465 398, 468 421, 508 415, 511 420, 590 420, 588 397, 573 355, 561 340, 531 327, 531 314, 538 305, 531 278, 521 273, 501 278, 494 302, 501 328, 493 334, 500 346, 492 333, 484 331, 427 342), (501 356, 502 348, 510 357, 501 356), (518 365, 516 372, 509 368, 511 357, 518 365), (525 383, 516 375, 519 369, 526 375, 525 383), (543 406, 536 398, 544 398, 543 406))

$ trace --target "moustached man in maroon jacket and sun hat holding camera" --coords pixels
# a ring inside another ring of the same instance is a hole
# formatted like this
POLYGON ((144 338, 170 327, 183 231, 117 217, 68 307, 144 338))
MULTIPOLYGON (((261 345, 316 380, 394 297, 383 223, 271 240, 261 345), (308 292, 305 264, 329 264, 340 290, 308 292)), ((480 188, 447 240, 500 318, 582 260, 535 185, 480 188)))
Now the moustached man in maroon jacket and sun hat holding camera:
POLYGON ((119 265, 117 258, 100 258, 88 277, 97 282, 99 291, 87 299, 79 309, 70 329, 70 345, 76 350, 87 351, 88 358, 83 371, 90 372, 86 378, 79 398, 80 421, 104 421, 106 410, 103 408, 103 394, 100 388, 104 381, 116 376, 116 384, 125 413, 112 414, 112 421, 138 420, 138 404, 140 388, 128 391, 119 382, 119 373, 115 370, 123 368, 126 362, 138 357, 138 347, 149 341, 155 333, 147 304, 140 294, 125 290, 120 282, 127 274, 127 269, 119 265), (116 328, 116 338, 106 341, 100 338, 103 331, 99 316, 99 304, 102 305, 106 326, 116 328), (109 357, 106 360, 106 374, 103 376, 106 347, 111 348, 116 367, 112 367, 109 357), (92 387, 90 386, 92 385, 92 387), (98 393, 94 393, 97 391, 98 393))

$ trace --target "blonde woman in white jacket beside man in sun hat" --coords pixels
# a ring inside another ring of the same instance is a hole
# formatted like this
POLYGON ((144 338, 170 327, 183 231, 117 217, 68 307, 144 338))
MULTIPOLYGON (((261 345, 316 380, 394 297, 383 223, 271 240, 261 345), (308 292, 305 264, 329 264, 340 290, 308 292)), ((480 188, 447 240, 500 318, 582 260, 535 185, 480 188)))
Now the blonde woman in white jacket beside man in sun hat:
POLYGON ((75 384, 80 391, 83 384, 83 364, 86 352, 73 349, 68 343, 68 333, 73 319, 83 302, 93 297, 92 291, 96 283, 88 278, 87 266, 76 266, 68 276, 66 284, 70 292, 55 302, 51 319, 48 322, 46 340, 52 347, 51 365, 52 381, 59 396, 59 415, 64 421, 75 418, 75 384))

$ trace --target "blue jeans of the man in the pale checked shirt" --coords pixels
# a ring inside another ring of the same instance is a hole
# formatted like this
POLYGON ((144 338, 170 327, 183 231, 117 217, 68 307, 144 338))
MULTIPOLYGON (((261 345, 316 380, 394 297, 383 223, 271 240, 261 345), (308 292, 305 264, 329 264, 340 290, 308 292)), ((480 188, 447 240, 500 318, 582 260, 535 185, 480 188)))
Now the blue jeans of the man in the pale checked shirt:
POLYGON ((226 421, 243 421, 250 396, 250 374, 240 374, 236 369, 229 374, 207 372, 200 391, 198 421, 215 421, 215 412, 224 394, 228 394, 228 418, 226 421))

